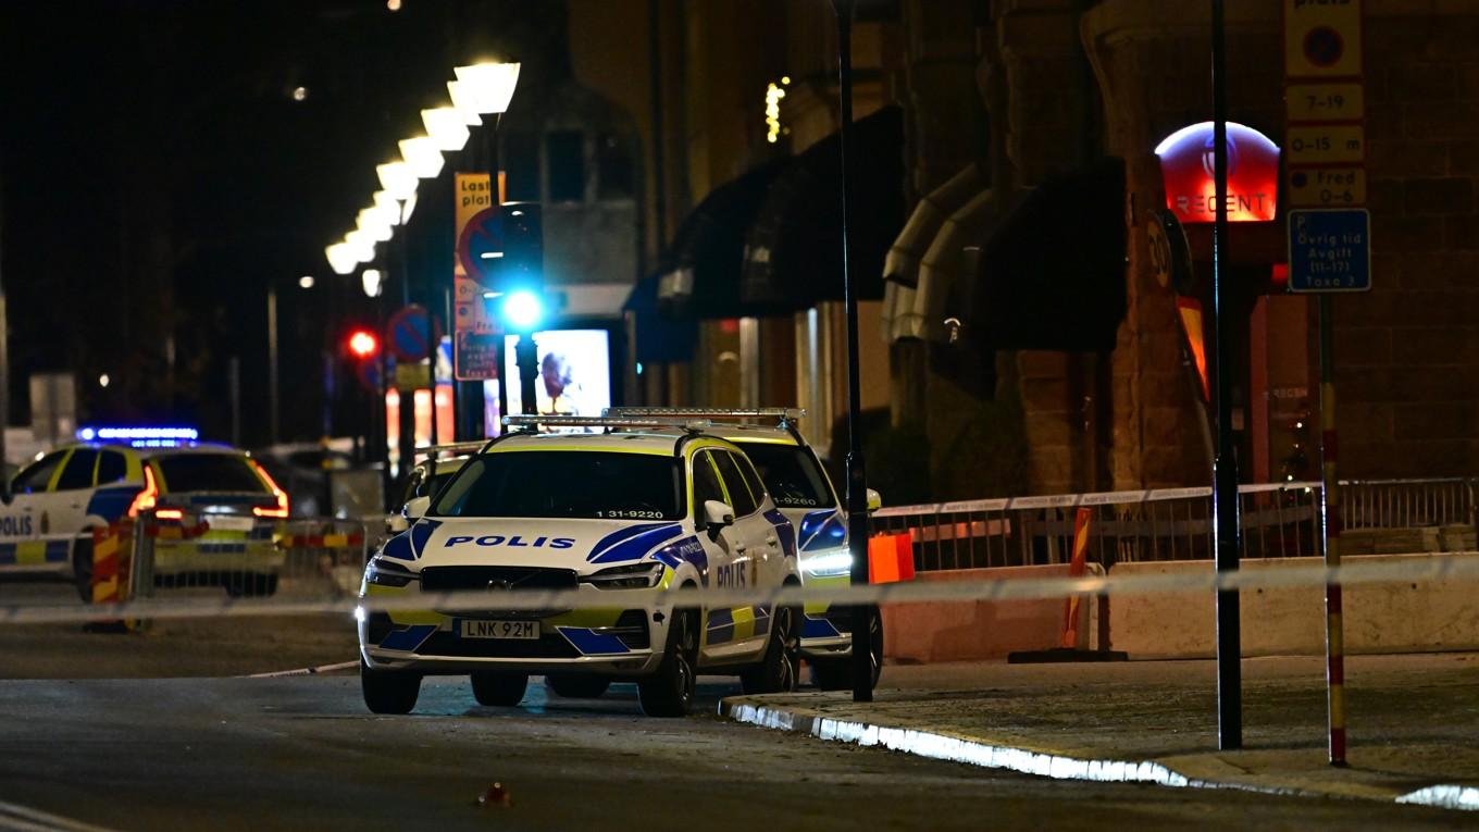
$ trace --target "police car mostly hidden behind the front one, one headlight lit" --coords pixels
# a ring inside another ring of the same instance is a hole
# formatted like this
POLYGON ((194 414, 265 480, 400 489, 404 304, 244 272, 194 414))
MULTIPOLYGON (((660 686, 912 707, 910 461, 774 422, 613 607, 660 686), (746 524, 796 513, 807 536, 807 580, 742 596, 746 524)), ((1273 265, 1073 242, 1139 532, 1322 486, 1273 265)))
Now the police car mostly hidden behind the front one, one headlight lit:
MULTIPOLYGON (((608 416, 658 419, 708 419, 710 434, 740 446, 754 463, 766 490, 796 527, 802 577, 809 586, 847 586, 852 554, 847 549, 847 512, 837 499, 827 469, 796 428, 806 412, 796 407, 728 410, 714 407, 608 407, 608 416)), ((881 505, 868 489, 868 509, 881 505)), ((800 654, 812 668, 812 681, 822 690, 852 687, 850 608, 806 604, 800 654)), ((883 669, 883 619, 868 610, 871 634, 871 685, 883 669)))

